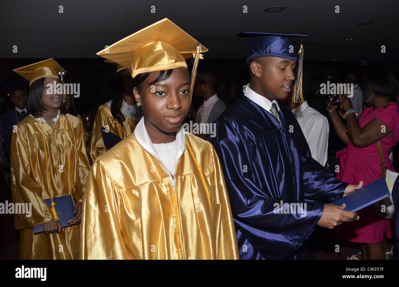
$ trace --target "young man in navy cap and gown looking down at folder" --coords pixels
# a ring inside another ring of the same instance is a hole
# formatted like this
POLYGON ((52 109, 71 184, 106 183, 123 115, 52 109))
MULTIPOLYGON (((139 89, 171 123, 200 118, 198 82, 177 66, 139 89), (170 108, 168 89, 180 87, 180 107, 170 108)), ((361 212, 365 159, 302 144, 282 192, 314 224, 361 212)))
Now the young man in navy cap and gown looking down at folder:
POLYGON ((306 35, 241 36, 253 37, 250 83, 216 121, 216 137, 208 137, 226 179, 240 258, 308 259, 305 243, 316 224, 334 228, 358 218, 329 202, 361 183, 342 183, 315 161, 294 114, 278 103, 294 88, 297 64, 293 98, 302 102, 302 44, 297 63, 289 38, 306 35))

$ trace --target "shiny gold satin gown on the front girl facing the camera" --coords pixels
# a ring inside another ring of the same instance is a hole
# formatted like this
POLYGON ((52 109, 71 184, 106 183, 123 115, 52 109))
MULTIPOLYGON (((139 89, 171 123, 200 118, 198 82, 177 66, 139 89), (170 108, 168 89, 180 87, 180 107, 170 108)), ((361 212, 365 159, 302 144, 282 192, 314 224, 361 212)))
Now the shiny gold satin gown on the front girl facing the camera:
MULTIPOLYGON (((205 177, 212 215, 188 148, 176 165, 182 259, 239 259, 219 159, 209 142, 186 134, 205 177)), ((97 159, 83 201, 81 258, 178 259, 168 173, 131 134, 97 159)))

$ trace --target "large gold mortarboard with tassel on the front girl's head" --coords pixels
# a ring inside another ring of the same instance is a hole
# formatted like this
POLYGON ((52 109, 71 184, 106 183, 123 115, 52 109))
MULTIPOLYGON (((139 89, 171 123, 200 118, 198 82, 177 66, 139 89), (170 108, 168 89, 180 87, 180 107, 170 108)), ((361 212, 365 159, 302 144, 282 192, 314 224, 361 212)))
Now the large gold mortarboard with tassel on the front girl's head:
POLYGON ((196 39, 164 18, 119 40, 97 55, 123 67, 130 67, 130 74, 134 78, 140 73, 187 68, 186 60, 194 54, 190 85, 192 95, 199 53, 206 51, 208 49, 196 39))

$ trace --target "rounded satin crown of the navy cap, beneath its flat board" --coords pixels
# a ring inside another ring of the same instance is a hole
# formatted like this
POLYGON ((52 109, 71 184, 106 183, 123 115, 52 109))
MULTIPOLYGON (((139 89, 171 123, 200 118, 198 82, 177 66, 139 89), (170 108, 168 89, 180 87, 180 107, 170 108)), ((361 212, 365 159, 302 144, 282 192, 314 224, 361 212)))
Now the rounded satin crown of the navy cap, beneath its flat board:
POLYGON ((296 61, 296 54, 294 49, 290 52, 290 47, 293 47, 291 40, 288 37, 278 36, 259 36, 253 37, 249 43, 247 51, 247 64, 255 57, 279 57, 296 61))

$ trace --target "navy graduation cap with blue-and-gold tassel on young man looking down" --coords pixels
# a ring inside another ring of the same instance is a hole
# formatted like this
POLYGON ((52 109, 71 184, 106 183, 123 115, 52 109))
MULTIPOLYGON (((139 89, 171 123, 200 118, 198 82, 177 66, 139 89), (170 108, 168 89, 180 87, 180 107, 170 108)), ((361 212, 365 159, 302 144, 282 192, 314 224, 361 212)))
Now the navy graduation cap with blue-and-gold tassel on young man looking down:
MULTIPOLYGON (((299 61, 295 73, 295 83, 292 90, 294 102, 303 102, 302 96, 302 66, 303 66, 303 45, 302 37, 305 34, 294 33, 257 33, 241 32, 239 37, 252 37, 247 52, 247 64, 255 57, 279 57, 296 61, 296 53, 290 51, 292 42, 290 38, 301 37, 300 49, 298 51, 299 61)), ((292 45, 293 46, 293 45, 292 45)))

